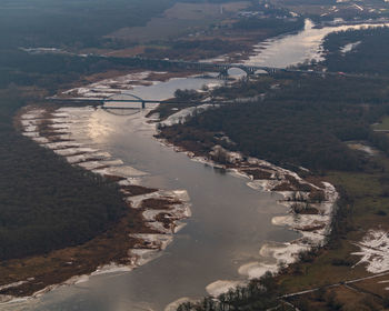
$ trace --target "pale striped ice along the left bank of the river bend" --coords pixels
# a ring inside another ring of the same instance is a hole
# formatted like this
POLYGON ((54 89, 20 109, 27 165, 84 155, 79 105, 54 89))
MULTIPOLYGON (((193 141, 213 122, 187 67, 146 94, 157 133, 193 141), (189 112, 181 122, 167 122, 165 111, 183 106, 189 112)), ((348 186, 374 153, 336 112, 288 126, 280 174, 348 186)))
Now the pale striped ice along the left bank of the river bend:
MULTIPOLYGON (((127 77, 129 78, 129 77, 127 77)), ((123 80, 126 82, 127 80, 123 80)), ((60 108, 38 109, 26 108, 20 117, 22 134, 31 138, 40 146, 62 156, 72 165, 81 167, 106 178, 112 178, 122 188, 124 195, 129 195, 126 187, 141 184, 141 179, 148 173, 126 165, 121 159, 113 158, 108 151, 97 148, 90 139, 90 131, 94 129, 107 130, 107 126, 99 123, 93 117, 93 108, 60 108), (103 128, 103 129, 102 129, 103 128), (127 194, 126 194, 127 193, 127 194)), ((148 127, 153 127, 147 124, 148 127)), ((186 190, 159 190, 148 194, 130 195, 124 198, 130 204, 129 208, 143 209, 143 219, 147 225, 153 229, 154 233, 134 233, 129 239, 138 242, 133 249, 128 250, 129 264, 117 264, 114 262, 99 267, 91 275, 128 272, 133 268, 146 264, 160 255, 173 240, 184 223, 181 221, 191 215, 190 198, 186 190), (168 200, 166 208, 143 208, 142 202, 147 199, 168 200)), ((89 275, 76 275, 62 284, 77 284, 87 282, 89 275)), ((28 281, 20 281, 7 287, 19 287, 28 281)), ((62 284, 49 285, 34 293, 39 297, 47 291, 53 290, 62 284)), ((2 302, 16 301, 12 297, 0 297, 2 302)))

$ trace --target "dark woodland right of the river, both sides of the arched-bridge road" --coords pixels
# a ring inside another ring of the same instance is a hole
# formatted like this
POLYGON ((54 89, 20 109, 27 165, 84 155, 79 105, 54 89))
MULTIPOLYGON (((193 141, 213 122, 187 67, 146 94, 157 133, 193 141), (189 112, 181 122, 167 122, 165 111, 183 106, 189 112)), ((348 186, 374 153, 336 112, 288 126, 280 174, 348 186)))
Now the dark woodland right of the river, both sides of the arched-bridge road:
POLYGON ((317 66, 335 72, 358 72, 359 78, 282 73, 230 89, 219 88, 215 97, 266 97, 205 112, 183 126, 164 129, 163 134, 205 152, 220 143, 217 136, 223 132, 236 142, 225 147, 278 164, 318 171, 357 170, 361 159, 345 141, 365 140, 389 154, 387 136, 370 127, 389 113, 386 38, 389 39, 388 28, 338 32, 326 38, 326 60, 317 66), (355 50, 340 52, 345 44, 356 41, 361 43, 355 50))

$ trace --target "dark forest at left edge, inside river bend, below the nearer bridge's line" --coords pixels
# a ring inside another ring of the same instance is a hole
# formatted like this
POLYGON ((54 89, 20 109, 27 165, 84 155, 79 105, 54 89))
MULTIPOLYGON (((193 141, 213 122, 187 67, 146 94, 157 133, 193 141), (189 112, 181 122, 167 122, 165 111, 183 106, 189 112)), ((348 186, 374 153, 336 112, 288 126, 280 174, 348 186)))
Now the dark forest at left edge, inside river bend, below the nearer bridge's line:
POLYGON ((86 242, 126 209, 116 184, 14 131, 24 103, 17 90, 0 91, 0 260, 86 242))

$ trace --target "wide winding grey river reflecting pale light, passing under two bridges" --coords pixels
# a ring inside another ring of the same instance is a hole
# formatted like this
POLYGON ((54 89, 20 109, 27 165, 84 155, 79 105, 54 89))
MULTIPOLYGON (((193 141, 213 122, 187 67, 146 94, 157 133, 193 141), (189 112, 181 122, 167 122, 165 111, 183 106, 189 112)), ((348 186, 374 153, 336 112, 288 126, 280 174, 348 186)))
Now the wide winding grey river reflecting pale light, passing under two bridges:
MULTIPOLYGON (((346 28, 357 27, 313 29, 307 21, 299 33, 260 43, 248 62, 286 67, 319 58, 322 38, 346 28)), ((177 79, 137 87, 131 92, 141 98, 164 99, 179 88, 199 89, 209 82, 177 79)), ((178 299, 207 294, 207 285, 218 280, 246 280, 238 270, 265 260, 259 255, 265 242, 286 242, 299 237, 271 224, 272 217, 286 213, 286 208, 277 203, 279 195, 253 190, 243 178, 225 174, 160 144, 152 138, 152 128, 143 122, 144 112, 126 117, 103 110, 83 113, 88 121, 79 132, 74 131, 76 140, 147 172, 144 185, 187 190, 192 217, 166 251, 131 272, 92 277, 38 299, 2 305, 1 310, 162 311, 178 299)))

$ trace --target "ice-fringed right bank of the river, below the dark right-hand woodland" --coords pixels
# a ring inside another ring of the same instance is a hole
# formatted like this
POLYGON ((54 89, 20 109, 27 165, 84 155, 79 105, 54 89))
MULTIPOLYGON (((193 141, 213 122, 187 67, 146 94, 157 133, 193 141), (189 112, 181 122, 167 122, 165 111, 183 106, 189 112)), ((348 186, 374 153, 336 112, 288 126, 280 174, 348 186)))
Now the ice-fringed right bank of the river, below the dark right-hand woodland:
MULTIPOLYGON (((170 117, 174 118, 174 114, 170 117)), ((287 243, 268 242, 260 249, 262 262, 250 262, 239 269, 239 273, 249 279, 260 278, 267 271, 277 273, 287 265, 300 260, 306 252, 325 245, 331 231, 331 221, 335 213, 335 205, 338 199, 338 192, 329 182, 310 175, 308 179, 300 178, 296 172, 273 165, 267 161, 256 158, 248 158, 240 152, 231 152, 221 146, 203 146, 203 148, 190 149, 187 143, 180 144, 174 140, 174 144, 166 139, 164 131, 171 129, 168 127, 157 134, 157 138, 167 146, 174 148, 178 152, 184 152, 194 161, 207 163, 211 167, 225 170, 238 177, 249 179, 248 187, 260 190, 279 193, 282 200, 279 203, 286 207, 286 215, 275 217, 272 224, 286 227, 299 232, 301 238, 287 243), (208 150, 208 152, 199 151, 208 150)), ((229 138, 223 137, 225 140, 229 138)), ((307 170, 300 168, 301 171, 307 170)), ((241 282, 238 282, 240 285, 241 282)), ((217 284, 216 290, 209 291, 212 295, 219 295, 227 292, 237 284, 217 284)))

